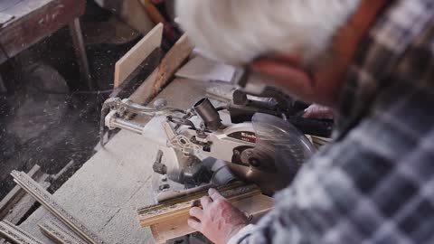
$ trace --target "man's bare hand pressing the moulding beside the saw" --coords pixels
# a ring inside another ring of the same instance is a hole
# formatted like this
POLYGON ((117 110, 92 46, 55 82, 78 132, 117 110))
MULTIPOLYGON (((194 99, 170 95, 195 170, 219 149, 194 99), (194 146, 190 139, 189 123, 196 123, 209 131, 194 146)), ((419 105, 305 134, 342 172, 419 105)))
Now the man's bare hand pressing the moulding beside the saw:
POLYGON ((210 196, 201 198, 203 209, 193 207, 188 225, 198 230, 212 242, 227 243, 233 235, 249 222, 246 215, 231 205, 215 189, 208 191, 210 196))

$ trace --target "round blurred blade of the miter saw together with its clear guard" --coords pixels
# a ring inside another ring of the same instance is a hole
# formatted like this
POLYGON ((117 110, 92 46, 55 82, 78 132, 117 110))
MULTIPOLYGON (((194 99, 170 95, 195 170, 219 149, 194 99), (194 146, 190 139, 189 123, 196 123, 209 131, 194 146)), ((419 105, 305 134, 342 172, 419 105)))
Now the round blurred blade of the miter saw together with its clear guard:
POLYGON ((231 164, 231 170, 264 192, 276 192, 288 186, 298 169, 316 151, 296 127, 279 117, 255 114, 252 126, 257 140, 249 153, 250 167, 231 164))

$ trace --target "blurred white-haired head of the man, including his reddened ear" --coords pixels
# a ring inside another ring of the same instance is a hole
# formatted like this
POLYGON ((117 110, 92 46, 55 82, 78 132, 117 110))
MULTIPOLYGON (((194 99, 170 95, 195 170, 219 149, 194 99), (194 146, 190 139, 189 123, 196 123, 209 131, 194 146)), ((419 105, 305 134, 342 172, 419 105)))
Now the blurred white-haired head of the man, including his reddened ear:
POLYGON ((178 0, 176 10, 193 43, 211 58, 250 65, 270 85, 318 102, 316 93, 327 86, 314 88, 321 80, 307 70, 328 66, 336 34, 361 1, 178 0))

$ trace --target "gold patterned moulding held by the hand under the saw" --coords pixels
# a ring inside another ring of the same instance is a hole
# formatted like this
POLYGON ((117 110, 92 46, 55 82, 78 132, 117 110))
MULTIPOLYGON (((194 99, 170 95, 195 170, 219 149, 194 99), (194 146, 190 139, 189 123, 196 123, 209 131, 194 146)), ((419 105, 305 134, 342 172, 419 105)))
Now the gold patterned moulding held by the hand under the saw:
MULTIPOLYGON (((237 202, 261 194, 256 185, 238 185, 235 188, 219 190, 222 196, 230 202, 237 202)), ((200 192, 193 194, 193 196, 175 199, 176 202, 165 202, 141 209, 138 211, 140 226, 147 227, 188 215, 193 204, 206 194, 207 192, 200 192)))

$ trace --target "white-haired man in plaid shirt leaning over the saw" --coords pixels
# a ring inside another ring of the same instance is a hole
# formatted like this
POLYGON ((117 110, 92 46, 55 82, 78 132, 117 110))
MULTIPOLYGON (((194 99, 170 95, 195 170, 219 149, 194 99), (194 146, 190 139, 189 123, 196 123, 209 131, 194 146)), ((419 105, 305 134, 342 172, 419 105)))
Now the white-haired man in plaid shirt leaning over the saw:
POLYGON ((335 108, 335 141, 256 225, 215 190, 189 225, 216 243, 434 243, 434 1, 183 0, 214 59, 335 108))

